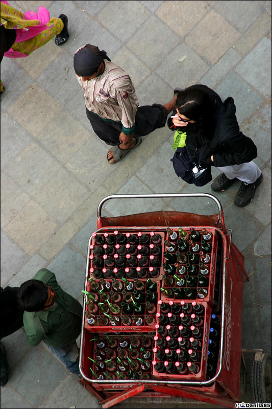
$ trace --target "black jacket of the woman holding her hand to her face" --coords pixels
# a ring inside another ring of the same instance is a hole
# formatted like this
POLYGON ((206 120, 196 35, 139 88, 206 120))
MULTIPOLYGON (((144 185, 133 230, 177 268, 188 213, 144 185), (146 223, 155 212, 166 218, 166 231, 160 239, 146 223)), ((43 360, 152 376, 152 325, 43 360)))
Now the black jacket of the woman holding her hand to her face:
MULTIPOLYGON (((220 97, 206 85, 192 85, 204 89, 213 99, 216 107, 215 130, 212 137, 205 141, 202 137, 200 125, 188 124, 185 128, 175 128, 172 118, 168 119, 167 125, 171 130, 180 129, 187 133, 186 148, 188 152, 199 160, 202 146, 206 143, 204 154, 201 160, 202 166, 229 166, 240 165, 251 162, 257 157, 257 148, 254 142, 240 132, 235 116, 236 107, 232 97, 227 98, 222 103, 220 97), (186 128, 190 126, 191 128, 186 128), (213 162, 211 156, 213 155, 213 162)), ((172 115, 175 115, 176 111, 172 115)))

